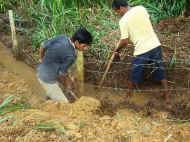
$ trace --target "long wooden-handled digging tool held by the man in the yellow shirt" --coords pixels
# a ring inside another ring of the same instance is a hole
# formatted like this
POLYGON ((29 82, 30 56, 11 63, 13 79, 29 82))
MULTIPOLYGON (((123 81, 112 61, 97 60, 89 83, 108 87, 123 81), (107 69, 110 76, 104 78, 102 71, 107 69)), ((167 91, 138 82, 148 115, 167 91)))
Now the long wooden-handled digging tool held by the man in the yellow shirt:
MULTIPOLYGON (((117 51, 118 48, 119 48, 119 47, 116 46, 116 48, 114 49, 114 51, 117 51)), ((111 67, 111 64, 112 64, 114 58, 115 58, 115 55, 116 55, 116 53, 113 52, 111 58, 109 59, 109 62, 108 62, 107 67, 106 67, 106 70, 105 70, 105 72, 104 72, 104 74, 103 74, 103 76, 102 76, 102 78, 101 78, 101 80, 100 80, 100 83, 99 83, 99 85, 98 85, 99 88, 100 88, 100 87, 102 86, 102 84, 104 83, 104 80, 105 80, 106 75, 107 75, 107 73, 108 73, 108 71, 109 71, 109 69, 110 69, 110 67, 111 67)))

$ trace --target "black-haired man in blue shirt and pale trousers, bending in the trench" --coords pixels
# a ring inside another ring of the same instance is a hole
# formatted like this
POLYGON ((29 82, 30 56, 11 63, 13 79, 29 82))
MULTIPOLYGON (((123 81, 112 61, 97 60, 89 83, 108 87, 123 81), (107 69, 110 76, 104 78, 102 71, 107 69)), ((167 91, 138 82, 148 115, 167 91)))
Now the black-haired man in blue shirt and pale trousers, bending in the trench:
POLYGON ((60 35, 41 44, 41 64, 37 69, 37 77, 50 99, 69 102, 59 83, 67 84, 69 88, 71 79, 67 71, 76 60, 75 49, 86 50, 91 42, 91 34, 85 28, 80 28, 71 38, 60 35))

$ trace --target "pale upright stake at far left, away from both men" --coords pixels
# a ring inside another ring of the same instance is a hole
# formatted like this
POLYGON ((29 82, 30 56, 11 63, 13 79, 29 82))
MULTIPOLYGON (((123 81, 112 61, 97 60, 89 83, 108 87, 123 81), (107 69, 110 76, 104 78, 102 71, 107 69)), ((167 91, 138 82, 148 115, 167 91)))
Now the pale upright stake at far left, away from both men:
POLYGON ((14 56, 16 58, 18 58, 19 57, 19 48, 18 48, 18 42, 17 42, 17 38, 16 38, 16 28, 15 28, 15 23, 14 23, 13 11, 9 10, 8 13, 9 13, 9 21, 10 21, 12 42, 13 42, 12 51, 13 51, 14 56))

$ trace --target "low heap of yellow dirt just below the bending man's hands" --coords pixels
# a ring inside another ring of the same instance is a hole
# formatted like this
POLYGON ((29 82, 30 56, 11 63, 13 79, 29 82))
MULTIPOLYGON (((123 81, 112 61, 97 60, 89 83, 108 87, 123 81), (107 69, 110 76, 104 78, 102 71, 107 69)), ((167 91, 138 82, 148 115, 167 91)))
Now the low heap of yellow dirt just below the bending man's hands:
POLYGON ((78 119, 87 119, 100 114, 101 103, 99 100, 91 97, 81 97, 72 104, 47 101, 40 108, 51 113, 68 115, 78 119))

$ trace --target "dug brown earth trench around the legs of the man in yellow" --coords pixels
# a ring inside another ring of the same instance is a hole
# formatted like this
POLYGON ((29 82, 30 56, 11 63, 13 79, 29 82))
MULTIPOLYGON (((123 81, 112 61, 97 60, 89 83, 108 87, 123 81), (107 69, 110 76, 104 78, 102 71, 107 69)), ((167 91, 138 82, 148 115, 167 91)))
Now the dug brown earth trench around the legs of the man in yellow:
MULTIPOLYGON (((172 55, 172 51, 164 50, 165 61, 170 60, 172 57, 166 54, 170 53, 169 55, 172 55)), ((161 97, 164 93, 161 84, 151 78, 151 67, 146 68, 144 74, 145 81, 135 91, 133 97, 127 97, 131 60, 131 57, 126 57, 122 61, 118 59, 114 60, 102 85, 102 89, 96 88, 105 71, 105 64, 94 62, 92 59, 86 61, 85 81, 95 85, 95 87, 92 87, 94 91, 90 94, 92 94, 91 96, 96 96, 97 99, 99 98, 103 108, 107 108, 103 110, 104 113, 115 115, 115 112, 117 112, 119 108, 130 108, 137 112, 143 110, 145 115, 152 115, 154 109, 156 109, 157 111, 168 111, 176 119, 185 118, 188 120, 190 117, 188 102, 190 99, 189 70, 177 68, 180 64, 176 64, 175 67, 168 69, 169 63, 164 62, 169 84, 169 93, 171 95, 171 104, 168 105, 161 97), (96 92, 96 94, 93 92, 96 92), (116 96, 120 96, 121 98, 116 99, 116 96)), ((188 68, 188 65, 185 66, 188 68)), ((89 85, 87 90, 89 90, 89 85)))

